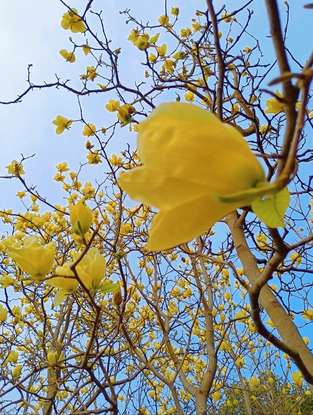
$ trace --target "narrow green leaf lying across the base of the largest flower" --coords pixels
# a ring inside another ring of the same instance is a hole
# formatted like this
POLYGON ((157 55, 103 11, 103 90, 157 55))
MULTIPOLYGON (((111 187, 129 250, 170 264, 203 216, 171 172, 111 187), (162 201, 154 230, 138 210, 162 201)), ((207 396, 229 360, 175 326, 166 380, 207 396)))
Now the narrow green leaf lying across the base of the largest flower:
POLYGON ((215 202, 220 203, 241 202, 241 206, 243 206, 249 205, 255 198, 262 198, 265 195, 271 195, 273 193, 277 193, 276 185, 274 183, 270 184, 262 182, 260 183, 259 187, 253 187, 247 190, 240 190, 239 192, 230 193, 229 195, 218 195, 216 193, 213 193, 211 195, 211 198, 215 200, 215 202))

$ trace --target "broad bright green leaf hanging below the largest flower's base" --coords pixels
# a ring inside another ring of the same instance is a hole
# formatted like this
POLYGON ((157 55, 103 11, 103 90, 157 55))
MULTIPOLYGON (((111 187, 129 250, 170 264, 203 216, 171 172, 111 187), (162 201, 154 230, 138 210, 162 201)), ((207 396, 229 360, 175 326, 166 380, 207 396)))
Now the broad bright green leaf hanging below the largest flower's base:
POLYGON ((256 198, 251 203, 253 212, 270 228, 285 227, 283 216, 289 206, 289 191, 287 188, 264 199, 256 198))

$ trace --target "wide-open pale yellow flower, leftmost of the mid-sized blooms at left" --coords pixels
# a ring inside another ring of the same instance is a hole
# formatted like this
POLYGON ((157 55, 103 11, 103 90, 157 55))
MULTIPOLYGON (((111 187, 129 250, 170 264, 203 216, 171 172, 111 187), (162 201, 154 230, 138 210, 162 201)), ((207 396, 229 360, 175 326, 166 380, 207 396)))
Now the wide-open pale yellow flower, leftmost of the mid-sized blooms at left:
POLYGON ((22 271, 29 274, 33 280, 42 280, 51 271, 54 255, 55 242, 49 242, 44 248, 38 243, 37 236, 29 236, 25 239, 24 247, 15 248, 4 242, 10 251, 8 254, 22 271))

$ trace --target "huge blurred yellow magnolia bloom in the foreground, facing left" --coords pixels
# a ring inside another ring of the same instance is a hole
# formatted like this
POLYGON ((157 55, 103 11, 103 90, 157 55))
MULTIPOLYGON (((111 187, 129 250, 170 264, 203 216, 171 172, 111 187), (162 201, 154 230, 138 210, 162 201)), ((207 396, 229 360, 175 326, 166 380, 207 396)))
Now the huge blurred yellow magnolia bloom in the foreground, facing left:
POLYGON ((121 174, 119 184, 133 199, 159 208, 149 232, 154 251, 191 241, 246 202, 221 203, 214 193, 227 195, 264 181, 237 130, 193 105, 168 103, 154 110, 140 123, 138 155, 144 167, 121 174), (214 157, 221 149, 223 159, 214 157))

